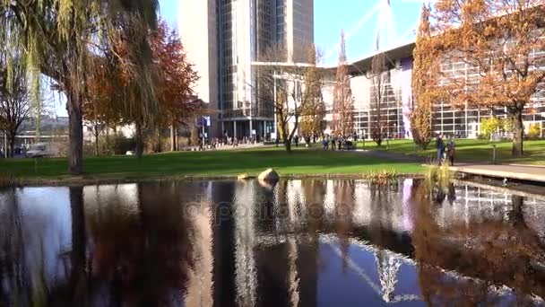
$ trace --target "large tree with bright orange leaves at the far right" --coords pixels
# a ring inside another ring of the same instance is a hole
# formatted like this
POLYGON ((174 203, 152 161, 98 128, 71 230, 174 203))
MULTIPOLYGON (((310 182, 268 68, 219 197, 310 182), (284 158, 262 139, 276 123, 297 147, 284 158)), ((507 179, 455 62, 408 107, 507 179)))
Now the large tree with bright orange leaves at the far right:
POLYGON ((543 0, 443 0, 432 13, 428 57, 438 53, 441 63, 474 73, 440 71, 444 95, 454 107, 505 108, 514 122, 514 156, 523 154, 523 114, 545 91, 543 16, 543 0))

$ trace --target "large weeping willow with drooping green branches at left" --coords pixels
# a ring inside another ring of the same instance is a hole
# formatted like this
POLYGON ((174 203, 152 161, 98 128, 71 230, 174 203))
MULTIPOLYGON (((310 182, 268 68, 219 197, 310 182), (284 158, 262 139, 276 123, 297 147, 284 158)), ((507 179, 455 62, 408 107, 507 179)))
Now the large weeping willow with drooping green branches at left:
POLYGON ((122 50, 129 57, 119 55, 119 61, 134 80, 120 87, 126 94, 119 102, 144 110, 142 114, 157 110, 147 35, 156 26, 158 6, 157 0, 0 0, 0 48, 25 54, 35 103, 40 103, 42 75, 65 93, 71 174, 82 173, 82 101, 88 78, 99 69, 94 59, 119 51, 119 32, 129 34, 122 50))

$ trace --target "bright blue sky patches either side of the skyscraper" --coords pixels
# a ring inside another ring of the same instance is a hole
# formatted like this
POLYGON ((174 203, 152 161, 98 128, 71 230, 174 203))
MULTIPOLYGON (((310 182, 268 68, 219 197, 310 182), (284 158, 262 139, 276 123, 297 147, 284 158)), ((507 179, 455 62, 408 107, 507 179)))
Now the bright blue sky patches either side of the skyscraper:
MULTIPOLYGON (((381 1, 385 0, 315 0, 315 42, 324 54, 331 55, 324 59, 325 64, 336 63, 338 49, 335 47, 339 42, 341 30, 347 34, 352 32, 360 20, 381 1)), ((379 17, 378 13, 374 13, 347 39, 349 61, 364 57, 373 51, 379 20, 388 24, 394 23, 397 35, 404 36, 395 39, 399 44, 414 37, 412 30, 419 20, 422 1, 390 0, 390 2, 391 18, 384 14, 379 17)), ((160 13, 172 26, 177 25, 177 18, 182 18, 179 16, 177 4, 178 0, 160 0, 160 13)))

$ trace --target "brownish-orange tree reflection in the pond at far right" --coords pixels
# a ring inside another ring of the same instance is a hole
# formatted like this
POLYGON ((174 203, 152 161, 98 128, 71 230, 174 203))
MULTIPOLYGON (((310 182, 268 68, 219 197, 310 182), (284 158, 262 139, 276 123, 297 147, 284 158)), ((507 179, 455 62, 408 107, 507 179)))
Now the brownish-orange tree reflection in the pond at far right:
POLYGON ((412 244, 420 288, 428 303, 463 299, 471 305, 489 302, 496 294, 481 281, 446 279, 438 268, 508 285, 514 288, 519 300, 524 299, 523 294, 544 297, 545 273, 538 267, 544 263, 545 250, 540 238, 524 223, 522 198, 512 198, 507 219, 487 215, 467 223, 467 216, 463 216, 467 213, 446 210, 445 206, 451 205, 438 204, 426 183, 415 182, 411 195, 411 206, 416 213, 412 244), (439 210, 443 214, 438 215, 439 210))

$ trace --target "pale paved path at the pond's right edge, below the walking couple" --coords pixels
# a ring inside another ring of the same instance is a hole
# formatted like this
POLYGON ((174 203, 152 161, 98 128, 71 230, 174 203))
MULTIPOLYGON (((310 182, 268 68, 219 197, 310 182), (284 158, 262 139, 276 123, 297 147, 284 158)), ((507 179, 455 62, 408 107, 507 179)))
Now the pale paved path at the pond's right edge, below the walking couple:
POLYGON ((539 166, 460 163, 451 166, 450 170, 507 180, 527 180, 545 183, 545 167, 539 166))

